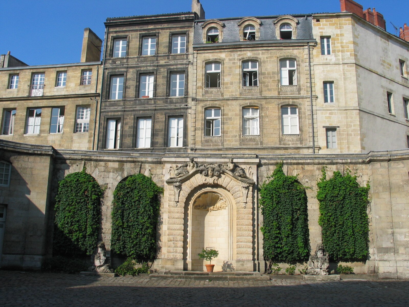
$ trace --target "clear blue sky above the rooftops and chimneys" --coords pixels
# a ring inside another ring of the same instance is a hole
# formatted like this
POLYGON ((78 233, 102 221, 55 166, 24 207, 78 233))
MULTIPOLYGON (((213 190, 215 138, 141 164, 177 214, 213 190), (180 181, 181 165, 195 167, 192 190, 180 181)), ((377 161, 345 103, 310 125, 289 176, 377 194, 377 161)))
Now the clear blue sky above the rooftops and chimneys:
MULTIPOLYGON (((4 2, 6 0, 3 0, 4 2)), ((409 24, 408 0, 358 0, 376 8, 395 34, 409 24)), ((206 18, 339 12, 339 0, 201 0, 206 18)), ((0 54, 11 54, 29 65, 77 63, 83 29, 104 36, 108 17, 176 13, 191 10, 191 0, 14 0, 0 10, 0 54), (153 4, 153 5, 152 5, 153 4)))

